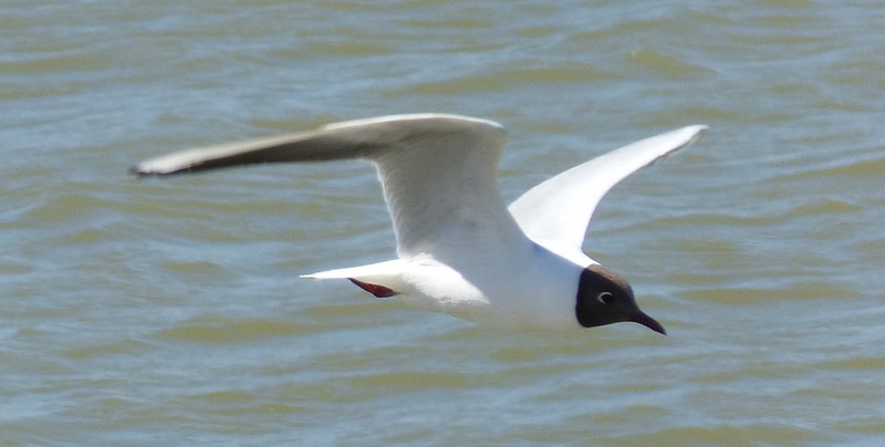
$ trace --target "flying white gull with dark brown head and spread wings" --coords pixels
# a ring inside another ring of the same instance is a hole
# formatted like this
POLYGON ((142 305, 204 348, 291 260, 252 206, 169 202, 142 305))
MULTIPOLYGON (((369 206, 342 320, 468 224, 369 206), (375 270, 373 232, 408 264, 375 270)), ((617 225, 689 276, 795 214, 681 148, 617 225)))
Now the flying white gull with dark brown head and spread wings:
POLYGON ((397 259, 302 278, 347 279, 377 298, 479 324, 564 331, 635 322, 629 283, 582 246, 596 205, 618 181, 689 145, 694 125, 643 139, 568 169, 508 207, 496 170, 507 132, 451 114, 407 114, 329 124, 312 132, 222 144, 134 166, 167 176, 239 165, 362 158, 373 163, 393 218, 397 259))

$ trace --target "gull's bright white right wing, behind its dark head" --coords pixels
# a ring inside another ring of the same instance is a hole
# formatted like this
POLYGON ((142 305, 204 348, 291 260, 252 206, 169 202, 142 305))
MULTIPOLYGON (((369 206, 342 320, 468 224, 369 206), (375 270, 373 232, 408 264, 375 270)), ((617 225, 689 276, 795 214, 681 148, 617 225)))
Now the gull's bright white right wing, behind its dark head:
POLYGON ((510 214, 535 242, 580 259, 590 218, 602 197, 628 175, 687 146, 706 128, 683 127, 575 166, 529 189, 510 205, 510 214))

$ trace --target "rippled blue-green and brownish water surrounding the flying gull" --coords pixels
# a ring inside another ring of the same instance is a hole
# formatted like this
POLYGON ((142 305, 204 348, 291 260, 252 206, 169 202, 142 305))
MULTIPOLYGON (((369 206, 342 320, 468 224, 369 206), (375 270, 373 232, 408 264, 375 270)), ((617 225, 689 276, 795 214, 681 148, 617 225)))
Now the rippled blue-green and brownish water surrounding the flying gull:
POLYGON ((875 444, 883 24, 873 1, 4 1, 0 444, 875 444), (509 127, 509 199, 709 124, 586 245, 669 336, 299 280, 392 256, 361 163, 126 174, 424 111, 509 127))

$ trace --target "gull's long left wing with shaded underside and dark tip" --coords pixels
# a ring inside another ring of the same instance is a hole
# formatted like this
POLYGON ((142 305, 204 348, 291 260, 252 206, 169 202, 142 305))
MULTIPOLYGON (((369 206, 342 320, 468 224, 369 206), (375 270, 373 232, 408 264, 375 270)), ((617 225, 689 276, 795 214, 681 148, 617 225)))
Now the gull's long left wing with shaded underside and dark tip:
POLYGON ((132 170, 168 175, 259 163, 366 158, 378 169, 399 254, 445 258, 465 248, 527 240, 498 191, 497 166, 506 139, 503 127, 486 119, 394 115, 181 152, 132 170))

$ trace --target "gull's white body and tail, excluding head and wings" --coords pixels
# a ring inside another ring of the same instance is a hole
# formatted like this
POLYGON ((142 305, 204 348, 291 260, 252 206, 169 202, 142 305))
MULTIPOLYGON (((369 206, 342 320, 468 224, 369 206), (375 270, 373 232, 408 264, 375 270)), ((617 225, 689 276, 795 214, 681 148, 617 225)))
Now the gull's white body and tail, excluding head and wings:
POLYGON ((574 300, 583 267, 533 242, 506 253, 467 252, 465 259, 469 261, 442 262, 418 254, 304 278, 384 285, 412 306, 489 326, 581 328, 574 318, 574 300))

